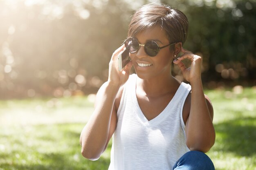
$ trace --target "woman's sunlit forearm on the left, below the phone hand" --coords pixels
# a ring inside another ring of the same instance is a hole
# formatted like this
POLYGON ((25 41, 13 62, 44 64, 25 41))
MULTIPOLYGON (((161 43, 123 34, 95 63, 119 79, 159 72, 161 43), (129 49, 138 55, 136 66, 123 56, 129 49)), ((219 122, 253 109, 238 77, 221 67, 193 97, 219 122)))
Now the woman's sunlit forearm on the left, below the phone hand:
POLYGON ((94 113, 83 128, 80 137, 82 155, 88 159, 97 159, 104 151, 118 89, 118 86, 112 86, 108 82, 99 89, 94 113))

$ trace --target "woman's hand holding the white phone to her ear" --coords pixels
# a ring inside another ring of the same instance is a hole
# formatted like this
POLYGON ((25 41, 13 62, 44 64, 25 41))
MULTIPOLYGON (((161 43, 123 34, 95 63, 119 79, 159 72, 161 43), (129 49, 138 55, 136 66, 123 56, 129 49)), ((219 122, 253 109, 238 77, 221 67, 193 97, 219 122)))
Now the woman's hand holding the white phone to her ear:
POLYGON ((130 61, 121 71, 118 69, 118 55, 123 51, 125 45, 120 46, 111 57, 109 62, 108 82, 114 86, 123 85, 129 78, 132 62, 130 61))

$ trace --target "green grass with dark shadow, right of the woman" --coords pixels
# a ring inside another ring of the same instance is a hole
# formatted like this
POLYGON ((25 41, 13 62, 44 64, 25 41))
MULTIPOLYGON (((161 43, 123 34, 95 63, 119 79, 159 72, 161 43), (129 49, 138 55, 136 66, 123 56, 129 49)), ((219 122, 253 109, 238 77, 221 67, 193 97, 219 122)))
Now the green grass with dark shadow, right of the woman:
POLYGON ((207 153, 217 170, 256 170, 256 89, 206 91, 214 108, 216 142, 207 153))

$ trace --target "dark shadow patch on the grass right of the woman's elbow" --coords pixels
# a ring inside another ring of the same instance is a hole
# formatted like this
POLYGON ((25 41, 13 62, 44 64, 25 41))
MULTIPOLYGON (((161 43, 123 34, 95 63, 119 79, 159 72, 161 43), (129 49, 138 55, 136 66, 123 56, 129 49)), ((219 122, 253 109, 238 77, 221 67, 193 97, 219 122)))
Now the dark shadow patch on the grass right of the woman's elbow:
POLYGON ((240 156, 256 153, 256 117, 242 117, 214 125, 215 150, 234 152, 240 156))

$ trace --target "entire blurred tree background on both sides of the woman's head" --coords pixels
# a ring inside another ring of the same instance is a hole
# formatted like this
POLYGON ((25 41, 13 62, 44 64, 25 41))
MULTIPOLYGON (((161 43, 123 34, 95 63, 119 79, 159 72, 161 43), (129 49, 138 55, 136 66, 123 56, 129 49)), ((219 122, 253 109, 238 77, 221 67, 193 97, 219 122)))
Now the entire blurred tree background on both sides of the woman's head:
MULTIPOLYGON (((150 2, 0 1, 0 98, 95 93, 127 36, 130 16, 150 2)), ((184 48, 204 58, 205 84, 256 84, 256 0, 159 2, 189 18, 184 48)))

